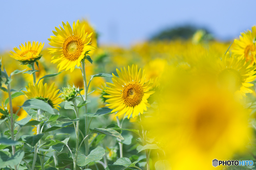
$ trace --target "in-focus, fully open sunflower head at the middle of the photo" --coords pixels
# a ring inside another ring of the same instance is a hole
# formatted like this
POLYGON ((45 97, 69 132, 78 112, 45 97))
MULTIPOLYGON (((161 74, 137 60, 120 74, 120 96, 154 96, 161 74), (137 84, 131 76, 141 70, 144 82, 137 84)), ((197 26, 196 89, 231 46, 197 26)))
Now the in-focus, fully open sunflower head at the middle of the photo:
POLYGON ((131 114, 132 117, 137 116, 139 113, 143 114, 150 104, 147 102, 147 98, 154 93, 154 91, 149 91, 151 89, 152 83, 147 81, 145 83, 145 70, 143 72, 141 69, 138 71, 138 66, 136 68, 132 65, 132 68, 128 66, 128 71, 121 68, 121 71, 116 69, 119 77, 116 77, 113 73, 112 81, 113 83, 106 83, 109 87, 105 87, 105 92, 108 96, 103 96, 105 98, 110 98, 106 104, 110 109, 114 109, 111 113, 116 112, 115 116, 128 115, 128 119, 131 114))

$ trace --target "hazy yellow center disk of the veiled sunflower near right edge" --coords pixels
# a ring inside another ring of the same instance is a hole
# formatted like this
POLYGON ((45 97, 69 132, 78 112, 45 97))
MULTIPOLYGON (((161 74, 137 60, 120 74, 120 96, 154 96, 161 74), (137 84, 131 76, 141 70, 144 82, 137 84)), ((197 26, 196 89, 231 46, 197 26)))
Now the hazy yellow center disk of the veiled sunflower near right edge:
POLYGON ((242 86, 242 77, 237 70, 225 69, 218 75, 218 81, 224 88, 232 91, 240 90, 242 86))

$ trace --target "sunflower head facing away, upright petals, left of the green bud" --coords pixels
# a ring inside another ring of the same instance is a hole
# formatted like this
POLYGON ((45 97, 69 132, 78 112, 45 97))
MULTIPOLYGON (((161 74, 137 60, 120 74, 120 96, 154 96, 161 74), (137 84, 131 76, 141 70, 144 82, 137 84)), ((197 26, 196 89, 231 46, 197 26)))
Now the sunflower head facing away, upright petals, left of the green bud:
POLYGON ((26 86, 27 91, 22 92, 29 99, 35 98, 46 101, 48 104, 50 104, 52 108, 59 110, 58 107, 60 108, 60 106, 58 106, 58 104, 60 104, 64 100, 59 97, 61 93, 57 94, 59 89, 56 90, 54 84, 55 83, 52 83, 51 86, 47 88, 46 83, 44 85, 43 83, 40 83, 39 86, 36 83, 35 85, 29 83, 28 86, 26 86))

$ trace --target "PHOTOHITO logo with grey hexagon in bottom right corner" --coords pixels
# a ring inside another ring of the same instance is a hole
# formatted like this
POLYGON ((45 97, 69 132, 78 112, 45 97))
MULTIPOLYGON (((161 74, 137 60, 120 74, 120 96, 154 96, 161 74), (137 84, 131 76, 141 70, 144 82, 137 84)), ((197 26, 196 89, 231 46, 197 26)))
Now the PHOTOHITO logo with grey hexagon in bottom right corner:
POLYGON ((235 166, 252 166, 253 165, 253 161, 250 160, 250 161, 218 161, 217 159, 214 159, 212 160, 212 166, 216 167, 216 166, 219 166, 219 165, 222 165, 222 166, 230 166, 230 165, 235 165, 235 166))

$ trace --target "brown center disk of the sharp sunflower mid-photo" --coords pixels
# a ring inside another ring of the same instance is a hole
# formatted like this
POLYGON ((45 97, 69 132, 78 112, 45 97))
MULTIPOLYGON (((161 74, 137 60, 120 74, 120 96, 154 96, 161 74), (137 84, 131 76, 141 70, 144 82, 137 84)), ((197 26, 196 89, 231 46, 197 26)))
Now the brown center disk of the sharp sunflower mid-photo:
POLYGON ((141 85, 137 82, 127 83, 122 90, 122 99, 126 106, 134 107, 142 101, 144 92, 141 85))

